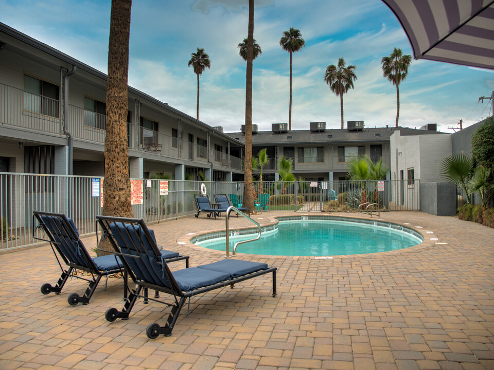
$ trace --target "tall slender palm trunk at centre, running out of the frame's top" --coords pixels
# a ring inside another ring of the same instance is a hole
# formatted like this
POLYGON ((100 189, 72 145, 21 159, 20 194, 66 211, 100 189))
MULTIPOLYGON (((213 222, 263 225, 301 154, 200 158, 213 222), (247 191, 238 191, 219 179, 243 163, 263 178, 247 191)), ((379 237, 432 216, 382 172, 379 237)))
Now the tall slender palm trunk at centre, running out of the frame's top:
POLYGON ((247 36, 247 68, 245 75, 245 173, 243 207, 254 211, 254 183, 252 182, 252 61, 254 59, 254 0, 249 0, 247 36))

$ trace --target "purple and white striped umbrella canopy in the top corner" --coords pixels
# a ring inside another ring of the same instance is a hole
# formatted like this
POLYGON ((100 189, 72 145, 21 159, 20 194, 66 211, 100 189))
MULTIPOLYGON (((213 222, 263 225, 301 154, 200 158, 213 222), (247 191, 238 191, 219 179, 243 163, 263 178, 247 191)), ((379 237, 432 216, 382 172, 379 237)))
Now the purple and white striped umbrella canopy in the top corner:
POLYGON ((382 0, 415 59, 494 69, 494 0, 382 0))

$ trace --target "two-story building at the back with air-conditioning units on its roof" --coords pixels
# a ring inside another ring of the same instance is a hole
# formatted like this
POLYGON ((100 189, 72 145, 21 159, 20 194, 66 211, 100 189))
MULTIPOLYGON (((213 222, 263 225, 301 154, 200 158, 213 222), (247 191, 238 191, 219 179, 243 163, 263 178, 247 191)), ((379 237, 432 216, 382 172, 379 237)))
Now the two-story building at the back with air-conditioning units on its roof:
MULTIPOLYGON (((253 125, 252 153, 266 148, 269 162, 263 168, 263 179, 278 180, 278 161, 292 159, 293 174, 313 181, 348 179, 348 163, 352 158, 367 155, 373 162, 382 159, 391 169, 390 138, 399 131, 402 136, 441 134, 436 131, 406 127, 364 127, 363 121, 349 121, 347 128, 326 129, 325 122, 310 122, 309 130, 287 130, 286 123, 272 124, 271 131, 257 131, 253 125)), ((245 142, 244 132, 228 134, 245 142)), ((254 175, 259 174, 259 169, 254 175)), ((387 178, 391 179, 390 173, 387 178)), ((235 179, 235 178, 234 178, 235 179)))

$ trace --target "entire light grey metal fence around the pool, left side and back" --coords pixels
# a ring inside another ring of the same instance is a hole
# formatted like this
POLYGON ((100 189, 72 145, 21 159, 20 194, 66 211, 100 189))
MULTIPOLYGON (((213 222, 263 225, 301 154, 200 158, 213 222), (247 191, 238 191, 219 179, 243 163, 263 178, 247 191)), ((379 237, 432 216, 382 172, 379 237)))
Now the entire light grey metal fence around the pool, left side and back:
MULTIPOLYGON (((32 238, 32 211, 64 213, 81 235, 94 233, 102 212, 102 178, 90 176, 0 173, 0 250, 39 243, 32 238)), ((131 179, 134 216, 147 223, 196 213, 194 194, 201 184, 214 194, 242 199, 243 182, 131 179)), ((363 202, 380 210, 419 210, 419 180, 255 182, 256 204, 262 210, 349 211, 363 202), (261 195, 265 194, 265 195, 261 195)), ((36 225, 35 225, 36 226, 36 225)))

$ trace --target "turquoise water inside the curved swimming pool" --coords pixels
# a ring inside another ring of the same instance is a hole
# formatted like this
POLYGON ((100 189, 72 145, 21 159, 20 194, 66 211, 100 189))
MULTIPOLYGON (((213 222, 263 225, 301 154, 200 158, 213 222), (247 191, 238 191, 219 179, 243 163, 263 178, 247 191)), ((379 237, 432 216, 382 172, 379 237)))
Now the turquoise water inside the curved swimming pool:
MULTIPOLYGON (((230 236, 230 251, 238 241, 255 236, 257 233, 230 236)), ((258 241, 240 244, 237 253, 331 256, 391 251, 421 242, 410 233, 385 227, 344 221, 280 221, 277 230, 262 233, 258 241)), ((226 249, 224 237, 196 244, 216 250, 226 249)))

